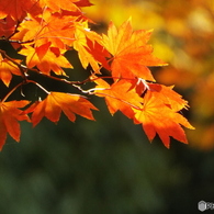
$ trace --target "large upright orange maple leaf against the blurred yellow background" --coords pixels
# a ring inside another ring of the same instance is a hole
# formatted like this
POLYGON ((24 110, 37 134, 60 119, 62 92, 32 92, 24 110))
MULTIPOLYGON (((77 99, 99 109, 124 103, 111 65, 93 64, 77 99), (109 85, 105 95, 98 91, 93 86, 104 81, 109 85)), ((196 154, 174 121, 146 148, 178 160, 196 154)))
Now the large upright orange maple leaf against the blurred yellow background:
POLYGON ((103 45, 112 54, 112 76, 115 78, 139 77, 155 81, 148 66, 164 66, 162 60, 153 56, 153 47, 147 45, 151 31, 133 31, 131 20, 117 29, 111 22, 108 35, 103 34, 103 45))

